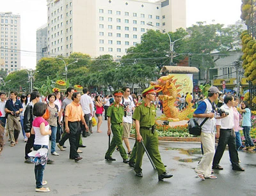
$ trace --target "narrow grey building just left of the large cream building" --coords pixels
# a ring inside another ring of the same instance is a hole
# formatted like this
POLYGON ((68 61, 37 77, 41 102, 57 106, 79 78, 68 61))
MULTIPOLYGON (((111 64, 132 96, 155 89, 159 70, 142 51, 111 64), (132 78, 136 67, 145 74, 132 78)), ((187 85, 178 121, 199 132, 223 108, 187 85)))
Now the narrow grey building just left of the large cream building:
POLYGON ((36 61, 47 57, 47 24, 36 29, 36 61))

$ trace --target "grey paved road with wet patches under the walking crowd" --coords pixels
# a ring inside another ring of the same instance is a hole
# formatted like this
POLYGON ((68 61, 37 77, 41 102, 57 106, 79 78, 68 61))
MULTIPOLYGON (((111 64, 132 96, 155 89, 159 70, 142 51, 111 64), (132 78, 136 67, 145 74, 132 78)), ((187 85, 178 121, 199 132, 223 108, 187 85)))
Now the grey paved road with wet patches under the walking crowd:
MULTIPOLYGON (((224 170, 216 171, 218 179, 201 181, 195 176, 200 160, 200 144, 160 142, 159 151, 173 177, 159 182, 157 171, 152 169, 147 156, 143 158, 143 177, 135 176, 134 170, 122 162, 117 151, 116 162, 104 160, 108 147, 107 123, 102 123, 103 133, 93 133, 83 138, 83 160, 68 160, 67 151, 60 156, 49 155, 55 164, 47 165, 44 179, 48 181, 49 193, 35 192, 34 165, 24 163, 24 146, 20 142, 10 147, 8 142, 0 155, 0 195, 255 195, 255 152, 241 152, 239 157, 245 172, 236 172, 225 151, 221 160, 224 170)), ((95 132, 95 128, 94 128, 95 132)), ((134 140, 130 140, 133 146, 134 140)), ((66 146, 69 147, 68 142, 66 146)))

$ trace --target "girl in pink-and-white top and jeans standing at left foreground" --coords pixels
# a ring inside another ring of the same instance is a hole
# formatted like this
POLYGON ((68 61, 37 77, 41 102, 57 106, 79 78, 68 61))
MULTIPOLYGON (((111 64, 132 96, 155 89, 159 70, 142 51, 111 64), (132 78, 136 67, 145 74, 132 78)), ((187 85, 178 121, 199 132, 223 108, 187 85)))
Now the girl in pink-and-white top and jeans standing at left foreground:
MULTIPOLYGON (((33 108, 33 115, 36 118, 33 121, 32 134, 35 134, 34 150, 37 151, 40 148, 47 148, 49 145, 49 124, 42 117, 47 109, 47 105, 43 102, 35 103, 33 108)), ((35 162, 35 177, 36 177, 36 192, 49 192, 49 188, 44 188, 43 185, 47 184, 47 181, 43 181, 45 164, 47 162, 45 158, 38 158, 35 162)))

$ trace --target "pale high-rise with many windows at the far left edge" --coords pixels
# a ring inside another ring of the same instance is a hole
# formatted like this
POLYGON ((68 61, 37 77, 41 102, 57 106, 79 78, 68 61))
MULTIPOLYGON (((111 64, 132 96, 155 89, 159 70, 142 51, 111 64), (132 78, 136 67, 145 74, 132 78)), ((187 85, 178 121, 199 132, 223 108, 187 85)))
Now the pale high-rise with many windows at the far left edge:
POLYGON ((0 68, 8 73, 20 70, 20 15, 0 12, 0 68))

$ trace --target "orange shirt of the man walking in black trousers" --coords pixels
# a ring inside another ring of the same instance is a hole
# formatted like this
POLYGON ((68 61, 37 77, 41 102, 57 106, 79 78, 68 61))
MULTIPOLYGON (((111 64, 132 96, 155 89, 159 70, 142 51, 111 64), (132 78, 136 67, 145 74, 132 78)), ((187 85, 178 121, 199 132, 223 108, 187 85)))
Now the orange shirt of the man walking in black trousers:
POLYGON ((65 116, 68 117, 68 121, 70 122, 81 121, 81 117, 84 116, 84 112, 80 103, 69 103, 65 108, 65 116))

